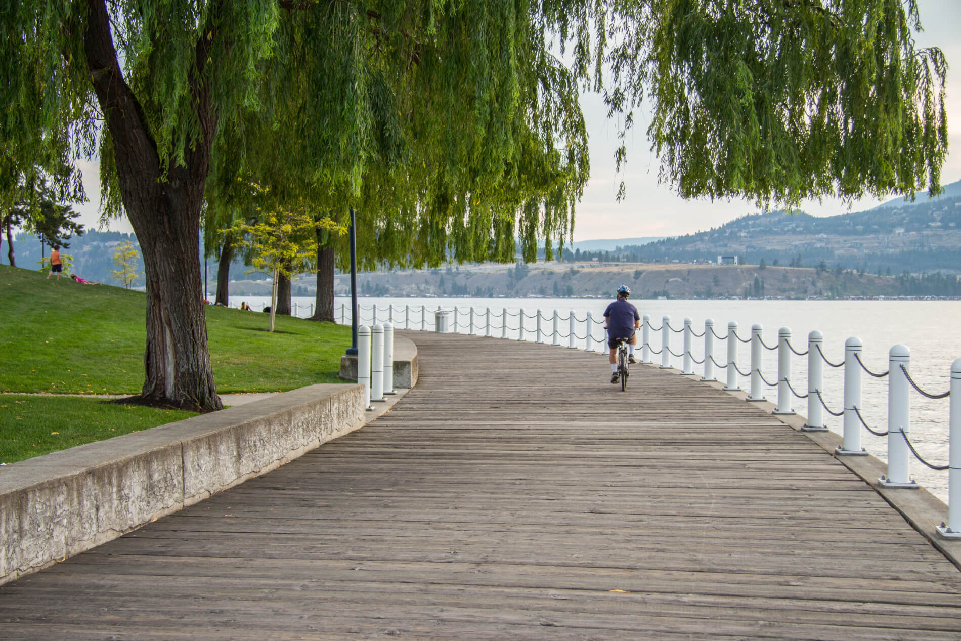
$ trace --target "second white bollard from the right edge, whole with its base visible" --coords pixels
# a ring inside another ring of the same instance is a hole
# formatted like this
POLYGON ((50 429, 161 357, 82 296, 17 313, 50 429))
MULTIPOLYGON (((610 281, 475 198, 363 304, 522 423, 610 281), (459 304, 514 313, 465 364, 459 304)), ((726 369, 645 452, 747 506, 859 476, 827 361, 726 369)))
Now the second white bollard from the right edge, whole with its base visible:
POLYGON ((910 371, 911 350, 906 345, 895 345, 888 353, 888 473, 882 476, 885 487, 916 488, 911 478, 911 452, 904 436, 911 431, 911 387, 907 376, 910 371))

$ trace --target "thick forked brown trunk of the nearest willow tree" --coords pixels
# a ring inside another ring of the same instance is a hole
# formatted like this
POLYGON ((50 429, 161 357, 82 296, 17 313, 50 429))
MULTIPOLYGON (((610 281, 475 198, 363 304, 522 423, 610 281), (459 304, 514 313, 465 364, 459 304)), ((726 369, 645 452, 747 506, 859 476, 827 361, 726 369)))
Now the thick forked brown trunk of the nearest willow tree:
POLYGON ((87 0, 90 81, 111 133, 124 209, 143 256, 147 344, 140 401, 202 411, 223 408, 210 367, 199 260, 200 211, 216 129, 204 78, 212 37, 210 32, 199 39, 195 69, 188 75, 199 133, 185 150, 185 164, 168 160, 164 167, 117 62, 104 0, 87 0))

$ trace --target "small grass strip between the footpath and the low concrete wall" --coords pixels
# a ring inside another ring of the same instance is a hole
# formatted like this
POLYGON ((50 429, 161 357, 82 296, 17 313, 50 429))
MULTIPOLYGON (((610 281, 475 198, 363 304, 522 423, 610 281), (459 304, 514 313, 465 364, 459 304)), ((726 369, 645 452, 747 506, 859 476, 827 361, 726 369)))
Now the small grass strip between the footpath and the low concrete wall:
POLYGON ((0 394, 0 462, 13 463, 190 416, 196 413, 99 399, 0 394))

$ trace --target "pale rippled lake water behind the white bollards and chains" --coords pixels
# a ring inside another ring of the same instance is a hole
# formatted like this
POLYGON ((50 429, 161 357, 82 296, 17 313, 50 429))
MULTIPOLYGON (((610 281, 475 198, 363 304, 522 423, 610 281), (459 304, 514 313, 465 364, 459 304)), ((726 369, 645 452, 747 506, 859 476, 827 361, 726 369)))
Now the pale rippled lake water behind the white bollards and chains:
MULTIPOLYGON (((269 304, 269 299, 262 297, 247 297, 247 302, 255 309, 269 304)), ((235 299, 239 304, 239 299, 235 299)), ((312 308, 312 298, 295 298, 296 313, 308 316, 312 308)), ((551 316, 557 309, 561 318, 566 319, 570 311, 575 317, 583 320, 589 310, 595 319, 601 319, 607 300, 600 299, 480 299, 480 298, 360 298, 360 317, 363 322, 370 323, 371 308, 378 306, 378 320, 387 319, 387 306, 393 305, 394 325, 403 327, 405 321, 405 306, 409 306, 411 326, 420 328, 422 306, 427 306, 429 329, 433 326, 433 311, 438 306, 443 309, 458 309, 458 331, 466 333, 468 310, 475 309, 478 325, 482 322, 483 314, 491 309, 491 324, 497 328, 493 335, 501 335, 501 316, 503 310, 508 310, 509 337, 516 338, 518 332, 518 316, 520 309, 526 314, 533 315, 541 309, 546 320, 542 327, 546 333, 553 329, 551 316)), ((671 317, 671 326, 680 329, 684 317, 693 320, 693 329, 697 333, 703 332, 704 319, 714 320, 715 332, 719 335, 727 333, 728 321, 738 323, 738 334, 743 338, 751 335, 751 326, 760 323, 764 328, 764 341, 768 345, 777 342, 777 331, 781 327, 788 327, 792 332, 792 345, 799 352, 807 349, 807 334, 813 330, 824 333, 825 357, 833 362, 844 360, 844 343, 850 336, 857 336, 864 346, 861 359, 864 364, 875 372, 888 369, 888 352, 892 346, 903 344, 911 350, 911 377, 922 389, 929 393, 940 394, 948 390, 951 362, 961 357, 961 324, 957 322, 961 314, 961 301, 684 301, 684 300, 648 300, 632 301, 641 314, 651 314, 653 327, 660 327, 664 315, 671 317)), ((337 298, 334 302, 336 318, 341 318, 341 305, 347 310, 347 321, 350 320, 350 299, 337 298)), ((453 328, 453 316, 451 317, 453 328)), ((534 340, 536 319, 527 318, 525 321, 525 338, 534 340)), ((568 332, 566 320, 559 323, 559 332, 568 332)), ((584 324, 578 323, 576 332, 583 336, 584 324)), ((480 333, 483 333, 482 330, 480 333)), ((594 327, 594 336, 601 338, 603 330, 599 324, 594 327)), ((546 338, 551 342, 551 338, 546 338)), ((660 333, 652 333, 653 349, 660 349, 660 333)), ((562 346, 567 346, 566 338, 560 340, 562 346)), ((584 340, 579 340, 579 347, 584 347, 584 340)), ((638 340, 640 343, 640 340, 638 340)), ((595 343, 594 348, 599 349, 595 343)), ((638 345, 638 348, 640 345, 638 345)), ((558 348, 559 349, 559 348, 558 348)), ((682 338, 679 333, 671 335, 671 349, 680 354, 682 338)), ((703 338, 694 338, 692 354, 695 358, 703 357, 703 338)), ((740 344, 738 348, 738 367, 748 371, 751 366, 750 345, 740 344)), ((638 355, 639 357, 639 355, 638 355)), ((724 364, 727 361, 727 346, 725 341, 714 341, 714 358, 724 364)), ((653 356, 655 362, 660 362, 659 356, 653 356)), ((671 357, 671 364, 680 368, 681 358, 671 357)), ((695 365, 694 371, 702 373, 702 365, 695 365)), ((776 382, 777 354, 776 351, 764 351, 761 368, 765 378, 776 382)), ((824 399, 828 407, 834 411, 844 408, 844 369, 824 367, 824 399)), ((725 380, 725 371, 715 368, 715 376, 725 380)), ((807 357, 792 355, 791 382, 796 390, 802 392, 807 388, 807 357)), ((738 377, 742 388, 750 389, 750 382, 746 377, 738 377)), ((609 368, 606 358, 598 357, 598 380, 609 380, 609 368)), ((643 393, 639 390, 638 393, 643 393)), ((862 415, 873 428, 879 431, 887 429, 887 379, 875 379, 867 374, 861 378, 861 407, 862 415)), ((764 395, 776 403, 776 388, 765 386, 764 395)), ((926 399, 913 390, 911 403, 911 442, 925 459, 937 465, 948 462, 948 432, 949 432, 949 400, 926 399)), ((806 400, 794 399, 792 407, 801 414, 807 413, 806 400)), ((841 433, 842 418, 832 417, 824 412, 825 424, 831 431, 841 433)), ((887 458, 886 437, 878 437, 866 430, 861 432, 861 444, 874 456, 882 460, 887 458)), ((944 501, 948 501, 948 472, 930 470, 911 458, 911 476, 922 483, 931 492, 944 501)))

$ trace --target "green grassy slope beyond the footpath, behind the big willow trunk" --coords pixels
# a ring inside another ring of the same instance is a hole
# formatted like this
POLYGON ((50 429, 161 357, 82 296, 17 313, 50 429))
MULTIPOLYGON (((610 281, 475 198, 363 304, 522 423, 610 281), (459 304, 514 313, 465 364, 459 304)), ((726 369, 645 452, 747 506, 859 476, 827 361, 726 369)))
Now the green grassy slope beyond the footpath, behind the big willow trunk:
MULTIPOLYGON (((283 391, 337 379, 350 329, 207 310, 217 391, 283 391)), ((136 394, 143 384, 144 294, 0 265, 0 390, 136 394)))

